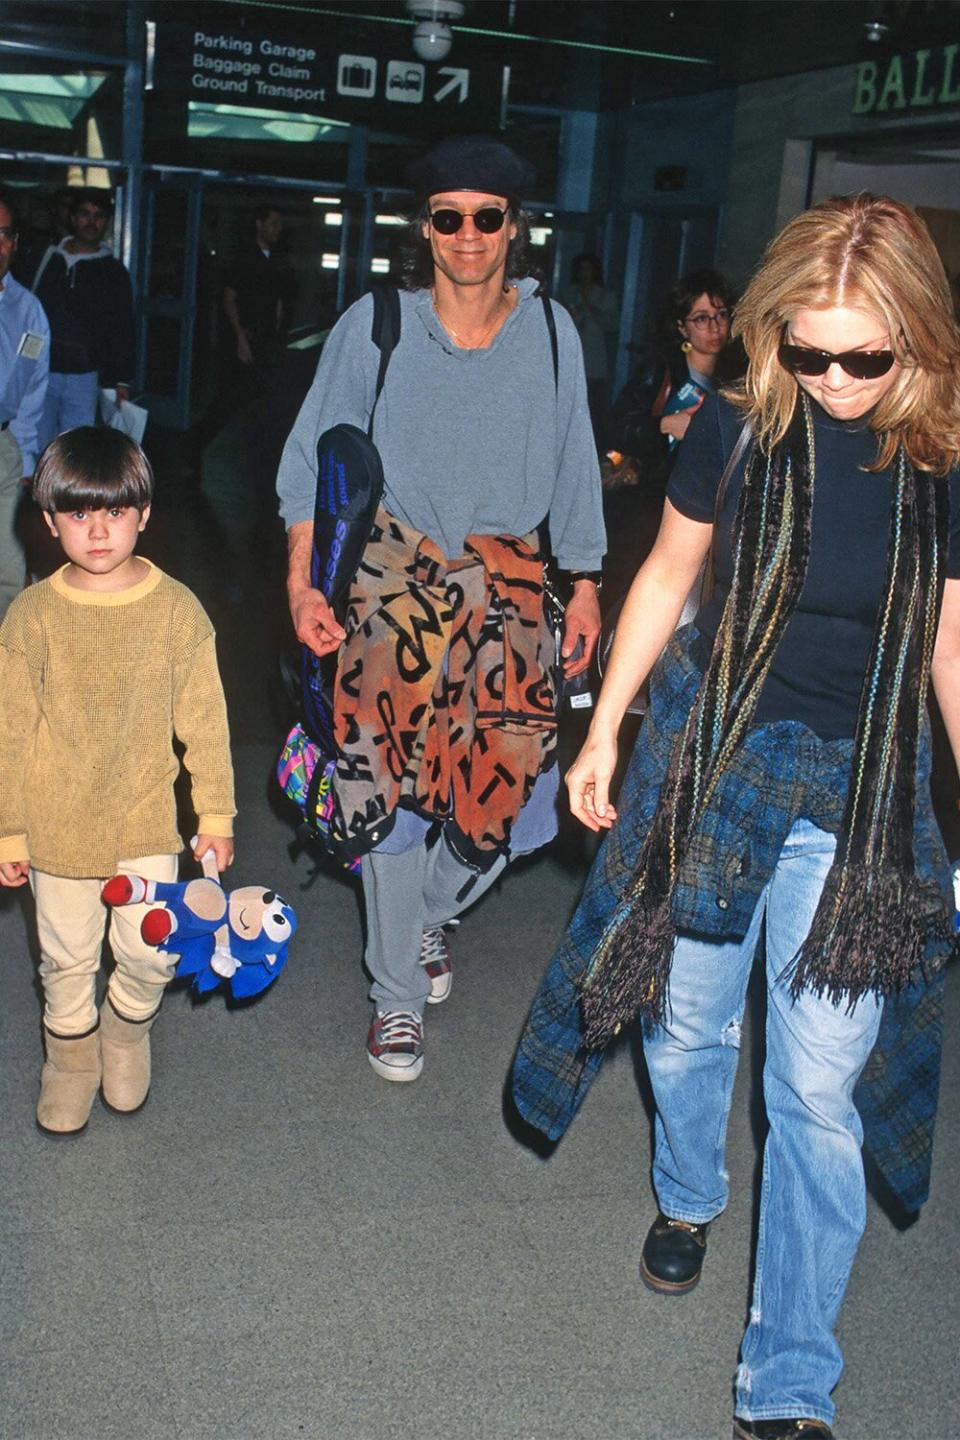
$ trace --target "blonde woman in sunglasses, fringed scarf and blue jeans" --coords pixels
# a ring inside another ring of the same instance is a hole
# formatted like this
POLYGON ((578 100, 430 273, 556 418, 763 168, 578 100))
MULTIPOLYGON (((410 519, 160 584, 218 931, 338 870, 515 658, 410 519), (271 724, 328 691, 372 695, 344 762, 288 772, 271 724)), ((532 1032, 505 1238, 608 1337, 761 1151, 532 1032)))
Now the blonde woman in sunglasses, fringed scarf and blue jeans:
POLYGON ((792 220, 737 328, 746 379, 689 423, 567 775, 574 815, 609 834, 514 1087, 557 1138, 639 1015, 659 1205, 640 1279, 692 1290, 727 1205, 763 935, 769 1135, 733 1433, 826 1440, 862 1139, 902 1208, 928 1188, 951 893, 925 701, 933 684, 956 759, 960 334, 924 223, 871 194, 792 220), (711 546, 712 598, 674 634, 711 546), (615 809, 620 719, 651 668, 615 809))

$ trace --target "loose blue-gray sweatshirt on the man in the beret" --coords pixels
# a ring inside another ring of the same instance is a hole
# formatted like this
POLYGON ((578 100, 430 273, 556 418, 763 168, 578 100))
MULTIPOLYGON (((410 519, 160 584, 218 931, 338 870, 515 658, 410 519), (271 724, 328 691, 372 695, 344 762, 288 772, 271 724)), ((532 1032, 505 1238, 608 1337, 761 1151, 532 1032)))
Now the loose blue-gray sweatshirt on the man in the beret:
MULTIPOLYGON (((400 343, 377 403, 373 439, 384 505, 445 554, 469 534, 528 534, 550 517, 564 570, 597 570, 606 549, 600 472, 587 412, 583 354, 570 315, 557 321, 558 387, 535 282, 486 350, 462 350, 429 289, 400 292, 400 343)), ((286 526, 314 518, 317 439, 331 425, 367 428, 379 350, 373 300, 337 321, 289 433, 276 488, 286 526)))

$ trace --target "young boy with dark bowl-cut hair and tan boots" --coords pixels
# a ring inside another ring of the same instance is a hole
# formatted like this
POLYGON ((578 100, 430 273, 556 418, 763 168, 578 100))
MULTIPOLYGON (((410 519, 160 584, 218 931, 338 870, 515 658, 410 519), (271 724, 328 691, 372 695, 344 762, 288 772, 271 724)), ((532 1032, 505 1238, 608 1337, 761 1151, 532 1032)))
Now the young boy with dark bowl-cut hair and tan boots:
POLYGON ((174 734, 197 812, 196 857, 233 860, 233 772, 213 628, 194 596, 134 554, 153 472, 117 431, 47 445, 33 497, 66 564, 0 626, 0 884, 30 881, 46 1064, 37 1125, 82 1130, 102 1081, 128 1115, 150 1089, 150 1027, 176 958, 140 937, 147 906, 111 913, 115 969, 96 1011, 105 877, 176 880, 174 734))

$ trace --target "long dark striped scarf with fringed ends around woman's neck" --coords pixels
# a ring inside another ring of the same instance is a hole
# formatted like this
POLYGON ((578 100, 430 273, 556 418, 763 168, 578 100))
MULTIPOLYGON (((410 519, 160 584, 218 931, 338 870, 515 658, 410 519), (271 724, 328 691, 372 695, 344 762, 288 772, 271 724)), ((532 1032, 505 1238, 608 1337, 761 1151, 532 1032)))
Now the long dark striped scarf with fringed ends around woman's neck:
MULTIPOLYGON (((662 1021, 674 886, 712 791, 753 720, 806 579, 813 419, 800 396, 783 441, 754 451, 734 521, 734 575, 697 701, 678 736, 633 877, 583 981, 589 1048, 635 1015, 662 1021)), ((931 897, 914 870, 917 742, 943 588, 947 487, 902 446, 891 485, 887 583, 864 680, 836 855, 792 989, 833 1002, 900 989, 921 960, 931 897)), ((936 906, 934 906, 936 907, 936 906)))

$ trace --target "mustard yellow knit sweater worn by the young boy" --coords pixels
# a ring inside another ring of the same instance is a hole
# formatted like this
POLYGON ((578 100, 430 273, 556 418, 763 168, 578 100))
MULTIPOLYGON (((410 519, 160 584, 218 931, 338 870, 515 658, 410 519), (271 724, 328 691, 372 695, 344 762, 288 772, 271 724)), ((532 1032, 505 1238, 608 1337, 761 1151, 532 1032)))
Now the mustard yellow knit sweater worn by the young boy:
POLYGON ((0 626, 0 861, 102 877, 121 858, 178 852, 174 734, 199 832, 232 835, 226 704, 200 602, 153 564, 117 593, 76 590, 63 570, 23 590, 0 626))

